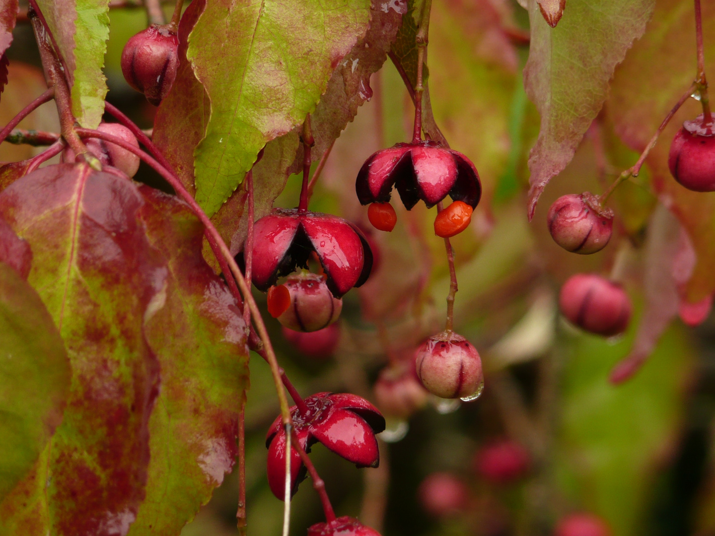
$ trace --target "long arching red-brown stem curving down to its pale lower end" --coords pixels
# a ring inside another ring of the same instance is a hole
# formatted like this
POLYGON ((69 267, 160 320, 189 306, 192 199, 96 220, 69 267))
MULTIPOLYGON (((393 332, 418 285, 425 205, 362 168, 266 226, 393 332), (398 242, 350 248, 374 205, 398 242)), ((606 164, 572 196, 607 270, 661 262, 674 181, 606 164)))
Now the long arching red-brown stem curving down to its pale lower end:
MULTIPOLYGON (((196 214, 197 217, 199 218, 199 220, 202 222, 202 224, 204 224, 205 229, 211 235, 212 239, 214 239, 222 257, 225 259, 225 262, 227 262, 228 267, 230 269, 230 273, 233 274, 233 277, 235 277, 238 287, 240 288, 241 293, 243 294, 245 304, 247 304, 248 307, 250 307, 250 309, 251 309, 253 322, 255 323, 257 333, 260 337, 260 340, 263 344, 263 349, 266 353, 265 359, 267 360, 268 364, 270 364, 273 381, 275 382, 278 401, 280 402, 280 411, 281 411, 281 416, 282 416, 282 422, 284 424, 290 425, 290 423, 291 423, 290 411, 288 409, 288 400, 285 396, 285 391, 282 389, 282 379, 280 377, 280 367, 278 366, 278 361, 275 357, 275 351, 274 351, 273 346, 270 342, 270 337, 268 337, 268 332, 265 327, 265 323, 263 322, 260 311, 258 310, 258 306, 255 302, 255 299, 253 299, 250 288, 247 286, 246 280, 244 279, 243 274, 241 273, 241 270, 239 269, 238 265, 236 264, 236 261, 230 252, 230 249, 228 249, 228 246, 221 238, 221 235, 219 234, 219 232, 217 231, 216 227, 211 222, 209 217, 206 215, 206 213, 203 211, 203 209, 201 207, 199 207, 199 204, 191 196, 191 194, 189 194, 189 192, 187 192, 187 189, 184 188, 184 185, 181 183, 181 181, 178 179, 178 177, 176 177, 174 174, 169 172, 169 170, 166 169, 165 167, 163 167, 162 164, 159 164, 159 162, 157 162, 156 159, 150 157, 148 154, 146 154, 141 149, 134 147, 132 144, 125 142, 123 139, 121 139, 119 137, 112 136, 111 134, 107 134, 106 132, 101 132, 98 130, 77 129, 77 134, 83 138, 88 137, 88 138, 104 139, 105 142, 117 144, 117 145, 119 145, 119 147, 122 147, 122 149, 127 149, 127 151, 132 152, 133 154, 136 154, 140 159, 142 159, 144 162, 149 164, 149 166, 152 167, 152 169, 154 169, 154 171, 156 171, 159 175, 161 175, 172 186, 172 188, 174 188, 174 190, 177 192, 179 197, 184 199, 184 201, 194 211, 194 214, 196 214)), ((227 279, 230 277, 230 274, 228 272, 225 275, 226 275, 227 279)))

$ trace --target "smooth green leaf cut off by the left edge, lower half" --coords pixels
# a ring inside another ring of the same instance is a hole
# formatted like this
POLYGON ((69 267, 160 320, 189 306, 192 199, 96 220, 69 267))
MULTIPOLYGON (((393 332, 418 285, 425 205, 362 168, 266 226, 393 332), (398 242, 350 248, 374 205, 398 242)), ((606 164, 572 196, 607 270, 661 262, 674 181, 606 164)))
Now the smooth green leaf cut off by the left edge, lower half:
POLYGON ((64 344, 47 309, 3 262, 0 341, 1 501, 25 477, 61 422, 70 379, 64 344))

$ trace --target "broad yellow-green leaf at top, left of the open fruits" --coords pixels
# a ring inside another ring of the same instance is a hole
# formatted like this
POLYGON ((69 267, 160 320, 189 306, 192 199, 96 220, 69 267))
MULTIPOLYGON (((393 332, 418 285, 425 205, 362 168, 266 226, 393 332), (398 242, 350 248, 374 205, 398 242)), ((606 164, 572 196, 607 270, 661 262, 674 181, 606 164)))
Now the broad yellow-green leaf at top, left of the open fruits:
POLYGON ((187 55, 211 101, 194 165, 196 199, 209 216, 242 182, 260 149, 315 109, 369 17, 368 0, 207 5, 187 55))

